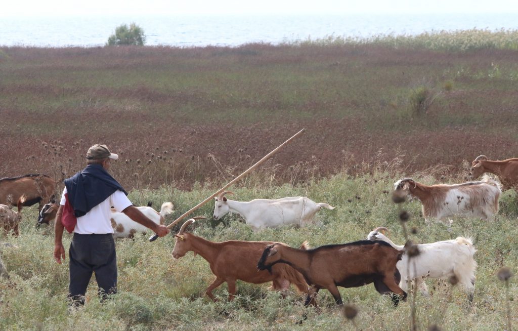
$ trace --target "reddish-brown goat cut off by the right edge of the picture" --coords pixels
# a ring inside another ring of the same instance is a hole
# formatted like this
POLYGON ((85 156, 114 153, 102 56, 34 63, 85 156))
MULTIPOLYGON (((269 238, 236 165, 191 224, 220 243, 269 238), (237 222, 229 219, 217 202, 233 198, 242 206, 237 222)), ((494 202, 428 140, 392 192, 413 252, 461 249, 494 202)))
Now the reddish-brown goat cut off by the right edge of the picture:
POLYGON ((469 179, 477 179, 484 172, 491 172, 498 176, 498 180, 502 183, 502 191, 514 189, 518 192, 518 158, 491 161, 487 160, 485 155, 477 156, 477 159, 471 162, 469 179))

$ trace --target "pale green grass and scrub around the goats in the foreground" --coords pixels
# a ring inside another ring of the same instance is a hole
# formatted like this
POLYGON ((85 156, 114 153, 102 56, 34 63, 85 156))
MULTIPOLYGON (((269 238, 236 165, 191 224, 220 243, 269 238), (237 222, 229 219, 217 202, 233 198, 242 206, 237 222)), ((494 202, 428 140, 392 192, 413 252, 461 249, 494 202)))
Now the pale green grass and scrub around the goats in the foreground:
MULTIPOLYGON (((269 183, 235 189, 239 199, 254 197, 283 197, 307 195, 315 201, 325 201, 336 206, 333 211, 321 211, 315 223, 304 228, 265 229, 254 233, 239 218, 227 215, 220 223, 211 218, 197 222, 190 228, 195 234, 214 241, 277 240, 299 246, 309 240, 313 247, 329 243, 342 243, 366 238, 372 228, 385 225, 392 231, 396 243, 405 241, 398 220, 399 208, 408 210, 411 218, 408 228, 416 227, 412 236, 417 242, 454 239, 459 235, 471 236, 477 248, 479 264, 473 305, 469 306, 466 294, 447 281, 427 280, 431 298, 416 296, 418 329, 426 330, 436 324, 442 330, 503 330, 506 329, 505 286, 497 279, 502 266, 510 266, 516 274, 518 263, 517 196, 506 192, 501 198, 500 213, 494 221, 455 219, 452 231, 447 226, 425 224, 416 202, 393 204, 390 190, 398 175, 374 172, 372 177, 350 177, 339 174, 330 179, 296 186, 269 183)), ((433 177, 423 177, 424 182, 434 182, 433 177)), ((133 202, 145 205, 148 200, 159 206, 171 201, 176 212, 193 206, 214 188, 199 187, 191 192, 162 188, 153 191, 133 191, 133 202)), ((213 204, 196 214, 210 217, 213 204)), ((0 282, 0 329, 57 330, 81 328, 84 330, 120 329, 354 329, 335 308, 333 297, 322 290, 318 300, 320 309, 304 308, 304 297, 292 289, 282 299, 268 290, 269 284, 253 285, 238 282, 238 297, 233 302, 225 300, 226 285, 214 291, 220 298, 212 303, 204 296, 213 276, 208 263, 200 256, 188 253, 172 260, 174 238, 168 236, 153 243, 149 235, 135 240, 118 240, 119 291, 111 301, 101 305, 96 298, 96 284, 91 282, 87 292, 87 305, 69 313, 66 308, 68 267, 57 265, 52 258, 53 236, 50 227, 35 228, 35 208, 24 209, 22 234, 19 238, 3 239, 18 248, 3 248, 3 259, 11 274, 11 282, 0 282), (301 325, 295 323, 307 313, 301 325)), ((65 234, 65 245, 70 236, 65 234)), ((68 256, 68 254, 67 254, 68 256)), ((356 289, 341 289, 346 303, 354 304, 359 313, 355 318, 357 329, 400 330, 410 329, 411 300, 394 308, 389 298, 381 297, 372 285, 356 289)), ((510 307, 512 323, 518 325, 516 297, 518 285, 510 282, 510 307)))

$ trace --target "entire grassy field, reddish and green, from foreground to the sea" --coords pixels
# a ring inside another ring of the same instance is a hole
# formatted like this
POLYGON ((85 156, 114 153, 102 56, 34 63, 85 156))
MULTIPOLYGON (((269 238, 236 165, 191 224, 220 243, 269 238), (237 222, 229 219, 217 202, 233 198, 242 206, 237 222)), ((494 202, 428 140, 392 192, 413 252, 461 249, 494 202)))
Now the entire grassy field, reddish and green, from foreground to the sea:
MULTIPOLYGON (((110 172, 136 205, 175 205, 172 221, 239 175, 285 139, 307 132, 232 190, 236 199, 305 195, 337 207, 304 228, 254 233, 239 217, 211 218, 213 204, 191 227, 214 241, 276 240, 313 247, 366 238, 387 226, 405 242, 398 213, 408 210, 416 242, 473 238, 479 264, 470 306, 447 281, 427 280, 430 298, 415 296, 417 327, 518 327, 518 196, 506 191, 493 221, 425 224, 416 202, 394 205, 392 184, 459 182, 467 162, 485 154, 518 155, 518 32, 465 31, 369 40, 330 37, 237 48, 0 47, 0 178, 42 172, 57 182, 84 166, 94 143, 121 158, 110 172)), ((61 187, 59 187, 61 190, 61 187)), ((292 289, 285 299, 269 284, 238 282, 204 296, 213 276, 188 253, 172 260, 174 238, 118 240, 119 294, 100 304, 95 282, 88 303, 69 312, 68 267, 52 258, 51 227, 35 228, 23 210, 19 238, 0 241, 10 280, 0 280, 0 329, 315 330, 410 329, 412 300, 394 308, 372 285, 342 289, 358 309, 354 324, 322 290, 320 308, 305 308, 292 289), (303 314, 308 319, 296 325, 303 314)), ((177 229, 176 229, 177 230, 177 229)), ((65 246, 70 236, 64 236, 65 246)), ((68 255, 68 254, 67 254, 68 255)), ((412 297, 410 297, 412 298, 412 297)))

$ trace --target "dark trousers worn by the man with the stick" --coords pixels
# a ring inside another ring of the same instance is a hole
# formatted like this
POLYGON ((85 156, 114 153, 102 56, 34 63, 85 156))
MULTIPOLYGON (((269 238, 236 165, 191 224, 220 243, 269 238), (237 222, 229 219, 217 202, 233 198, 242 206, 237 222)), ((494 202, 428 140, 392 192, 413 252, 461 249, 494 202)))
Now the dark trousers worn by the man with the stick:
POLYGON ((84 304, 84 294, 95 272, 101 300, 117 293, 117 256, 111 234, 80 235, 75 233, 68 251, 70 285, 68 297, 76 305, 84 304))

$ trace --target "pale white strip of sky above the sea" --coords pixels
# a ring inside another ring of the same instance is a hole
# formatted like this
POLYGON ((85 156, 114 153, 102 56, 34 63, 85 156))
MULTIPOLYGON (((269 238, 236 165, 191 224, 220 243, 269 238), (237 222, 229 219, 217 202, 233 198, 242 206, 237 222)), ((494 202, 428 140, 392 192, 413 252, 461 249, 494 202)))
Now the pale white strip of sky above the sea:
MULTIPOLYGON (((25 0, 0 17, 517 13, 518 0, 25 0)), ((518 17, 517 17, 518 18, 518 17)))

